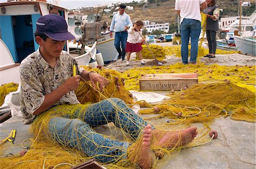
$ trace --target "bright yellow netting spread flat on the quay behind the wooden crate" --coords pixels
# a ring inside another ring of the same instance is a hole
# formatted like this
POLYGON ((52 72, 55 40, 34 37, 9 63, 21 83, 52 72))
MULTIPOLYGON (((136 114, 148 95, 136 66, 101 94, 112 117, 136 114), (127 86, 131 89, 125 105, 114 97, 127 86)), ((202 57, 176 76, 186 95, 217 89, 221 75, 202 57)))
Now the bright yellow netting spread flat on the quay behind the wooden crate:
POLYGON ((146 74, 161 73, 197 73, 199 82, 224 82, 233 84, 243 83, 255 85, 255 66, 220 66, 217 64, 183 65, 176 63, 168 66, 138 67, 121 73, 125 78, 127 90, 139 90, 139 79, 146 74))

